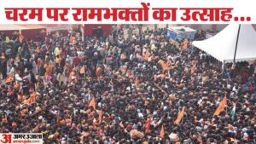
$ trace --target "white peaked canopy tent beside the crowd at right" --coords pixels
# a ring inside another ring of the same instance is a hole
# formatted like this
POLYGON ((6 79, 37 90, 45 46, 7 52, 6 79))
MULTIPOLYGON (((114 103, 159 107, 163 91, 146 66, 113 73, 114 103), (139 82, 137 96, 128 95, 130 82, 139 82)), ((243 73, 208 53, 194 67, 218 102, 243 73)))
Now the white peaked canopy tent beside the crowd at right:
POLYGON ((192 44, 224 63, 232 62, 235 52, 236 61, 256 59, 256 32, 252 25, 241 25, 239 31, 238 24, 230 24, 214 37, 203 41, 194 41, 192 44))

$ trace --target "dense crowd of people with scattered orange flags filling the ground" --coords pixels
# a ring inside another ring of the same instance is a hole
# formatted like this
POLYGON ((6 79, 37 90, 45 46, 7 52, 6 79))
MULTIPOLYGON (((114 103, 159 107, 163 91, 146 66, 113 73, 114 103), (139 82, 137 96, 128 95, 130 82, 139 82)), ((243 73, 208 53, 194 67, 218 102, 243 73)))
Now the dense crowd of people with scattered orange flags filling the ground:
POLYGON ((255 63, 222 70, 165 29, 125 31, 84 41, 79 28, 45 40, 0 35, 0 133, 56 144, 256 142, 255 63))

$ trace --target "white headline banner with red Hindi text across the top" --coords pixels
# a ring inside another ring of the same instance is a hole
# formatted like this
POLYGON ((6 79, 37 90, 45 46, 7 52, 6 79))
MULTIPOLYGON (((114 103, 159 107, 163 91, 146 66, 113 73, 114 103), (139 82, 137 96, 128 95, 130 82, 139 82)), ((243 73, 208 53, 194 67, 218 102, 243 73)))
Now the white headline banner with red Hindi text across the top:
POLYGON ((0 24, 251 24, 255 12, 248 0, 9 0, 0 24))

